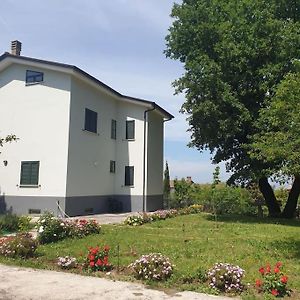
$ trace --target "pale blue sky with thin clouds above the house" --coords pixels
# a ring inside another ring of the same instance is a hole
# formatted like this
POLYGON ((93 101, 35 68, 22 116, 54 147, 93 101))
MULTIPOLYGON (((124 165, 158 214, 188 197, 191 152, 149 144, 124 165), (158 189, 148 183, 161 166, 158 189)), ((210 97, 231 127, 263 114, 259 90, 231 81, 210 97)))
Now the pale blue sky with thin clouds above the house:
MULTIPOLYGON (((181 0, 175 2, 180 3, 181 0)), ((172 82, 183 65, 166 58, 173 0, 1 0, 0 54, 22 42, 21 55, 76 65, 118 92, 155 101, 175 116, 165 123, 164 157, 171 178, 212 181, 208 152, 187 147, 184 95, 172 82)), ((221 167, 221 179, 228 174, 221 167)))

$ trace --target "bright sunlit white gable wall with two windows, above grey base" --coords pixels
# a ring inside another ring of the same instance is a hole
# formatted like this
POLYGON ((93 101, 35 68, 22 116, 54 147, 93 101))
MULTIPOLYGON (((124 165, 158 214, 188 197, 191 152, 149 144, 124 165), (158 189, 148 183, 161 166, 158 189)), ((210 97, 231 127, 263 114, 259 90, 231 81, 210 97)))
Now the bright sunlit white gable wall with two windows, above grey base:
POLYGON ((65 196, 69 90, 70 77, 54 71, 14 64, 0 73, 0 136, 19 138, 0 149, 2 195, 65 196), (44 72, 44 82, 26 86, 27 69, 44 72), (18 186, 21 161, 40 161, 39 188, 18 186))

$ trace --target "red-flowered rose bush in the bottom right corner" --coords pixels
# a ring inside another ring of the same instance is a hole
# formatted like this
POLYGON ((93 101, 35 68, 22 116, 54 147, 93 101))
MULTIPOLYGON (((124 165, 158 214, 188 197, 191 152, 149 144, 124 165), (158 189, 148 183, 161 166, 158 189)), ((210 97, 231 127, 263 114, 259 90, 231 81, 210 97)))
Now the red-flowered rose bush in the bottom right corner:
POLYGON ((271 268, 269 264, 259 268, 259 273, 263 279, 256 279, 255 285, 258 291, 271 293, 275 297, 289 295, 290 291, 287 289, 288 277, 281 271, 281 266, 282 263, 277 262, 274 268, 271 268))

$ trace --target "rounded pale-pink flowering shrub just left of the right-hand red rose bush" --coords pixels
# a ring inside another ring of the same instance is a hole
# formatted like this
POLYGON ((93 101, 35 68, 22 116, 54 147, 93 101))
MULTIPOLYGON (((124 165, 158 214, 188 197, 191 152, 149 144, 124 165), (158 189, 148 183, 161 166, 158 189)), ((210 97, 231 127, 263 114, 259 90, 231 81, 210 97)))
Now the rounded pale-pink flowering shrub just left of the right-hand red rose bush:
POLYGON ((240 293, 244 289, 244 270, 227 263, 216 263, 208 272, 209 285, 221 292, 240 293))

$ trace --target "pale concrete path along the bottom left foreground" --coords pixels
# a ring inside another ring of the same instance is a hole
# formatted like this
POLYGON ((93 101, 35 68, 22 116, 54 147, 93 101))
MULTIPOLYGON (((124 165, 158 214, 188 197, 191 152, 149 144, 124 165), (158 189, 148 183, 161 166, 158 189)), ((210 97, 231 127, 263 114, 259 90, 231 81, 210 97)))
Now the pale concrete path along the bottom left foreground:
POLYGON ((0 264, 0 300, 228 300, 194 292, 166 294, 141 284, 0 264))

